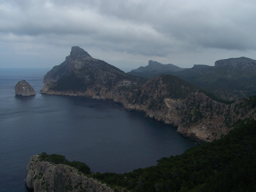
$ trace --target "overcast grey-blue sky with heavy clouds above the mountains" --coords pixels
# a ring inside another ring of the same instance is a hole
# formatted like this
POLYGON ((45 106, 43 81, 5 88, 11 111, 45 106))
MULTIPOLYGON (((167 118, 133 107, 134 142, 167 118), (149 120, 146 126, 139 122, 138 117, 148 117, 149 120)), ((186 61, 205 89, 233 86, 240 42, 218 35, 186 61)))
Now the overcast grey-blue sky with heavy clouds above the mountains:
POLYGON ((256 59, 256 1, 0 0, 0 68, 52 68, 72 46, 125 72, 256 59))

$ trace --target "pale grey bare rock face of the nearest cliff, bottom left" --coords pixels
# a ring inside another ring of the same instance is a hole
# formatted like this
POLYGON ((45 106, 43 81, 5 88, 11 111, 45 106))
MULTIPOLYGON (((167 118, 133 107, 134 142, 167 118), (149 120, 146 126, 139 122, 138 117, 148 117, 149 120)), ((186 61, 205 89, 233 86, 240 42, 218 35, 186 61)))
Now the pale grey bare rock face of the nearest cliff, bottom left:
POLYGON ((31 157, 25 181, 28 189, 35 192, 113 191, 105 184, 87 178, 71 166, 41 161, 39 155, 31 157))

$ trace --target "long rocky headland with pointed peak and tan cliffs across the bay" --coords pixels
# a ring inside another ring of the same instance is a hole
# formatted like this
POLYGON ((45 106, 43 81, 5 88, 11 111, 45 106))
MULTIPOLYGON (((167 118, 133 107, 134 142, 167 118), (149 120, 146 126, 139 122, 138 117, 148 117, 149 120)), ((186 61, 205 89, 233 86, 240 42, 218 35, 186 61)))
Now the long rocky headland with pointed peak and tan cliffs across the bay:
POLYGON ((199 141, 220 138, 240 119, 255 119, 255 105, 251 108, 245 105, 254 102, 254 98, 223 104, 178 77, 167 74, 149 80, 133 77, 90 57, 87 52, 75 56, 73 49, 58 66, 65 68, 65 74, 63 70, 49 71, 41 93, 111 99, 128 110, 141 111, 173 125, 178 133, 199 141))

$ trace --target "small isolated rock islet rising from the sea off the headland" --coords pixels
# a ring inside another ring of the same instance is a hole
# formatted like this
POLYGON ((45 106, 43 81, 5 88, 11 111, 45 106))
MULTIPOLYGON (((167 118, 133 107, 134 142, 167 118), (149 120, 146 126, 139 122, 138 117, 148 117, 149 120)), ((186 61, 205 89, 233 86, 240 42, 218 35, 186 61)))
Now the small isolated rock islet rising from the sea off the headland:
POLYGON ((27 83, 24 79, 20 80, 14 87, 15 89, 15 94, 16 95, 21 95, 21 96, 31 96, 35 95, 35 90, 34 88, 27 83))

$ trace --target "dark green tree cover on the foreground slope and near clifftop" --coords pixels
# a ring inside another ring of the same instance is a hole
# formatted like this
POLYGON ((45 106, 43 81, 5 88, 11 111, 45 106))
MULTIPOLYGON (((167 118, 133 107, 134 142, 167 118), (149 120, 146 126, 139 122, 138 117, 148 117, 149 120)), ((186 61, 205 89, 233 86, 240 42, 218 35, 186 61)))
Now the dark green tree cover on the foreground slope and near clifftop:
POLYGON ((163 157, 156 166, 124 174, 94 174, 86 164, 69 162, 65 156, 56 154, 42 153, 41 159, 68 164, 81 171, 86 168, 83 173, 91 173, 89 177, 116 191, 254 191, 255 149, 256 121, 247 120, 220 140, 203 143, 182 155, 163 157))

